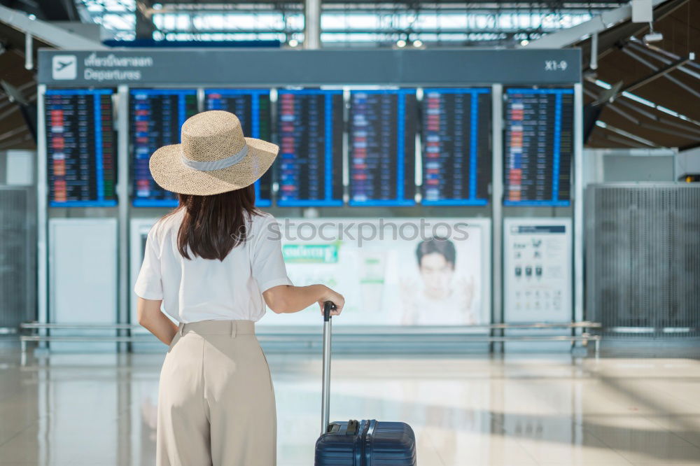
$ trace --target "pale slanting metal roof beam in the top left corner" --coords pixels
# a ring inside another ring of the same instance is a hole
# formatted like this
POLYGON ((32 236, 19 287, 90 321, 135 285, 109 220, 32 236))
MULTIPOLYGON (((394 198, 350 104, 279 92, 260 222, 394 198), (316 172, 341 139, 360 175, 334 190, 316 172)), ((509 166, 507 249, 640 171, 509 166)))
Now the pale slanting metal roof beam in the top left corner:
POLYGON ((0 5, 0 22, 17 29, 25 34, 34 36, 40 41, 55 46, 72 50, 103 50, 102 43, 79 36, 50 22, 32 20, 27 13, 13 10, 0 5))

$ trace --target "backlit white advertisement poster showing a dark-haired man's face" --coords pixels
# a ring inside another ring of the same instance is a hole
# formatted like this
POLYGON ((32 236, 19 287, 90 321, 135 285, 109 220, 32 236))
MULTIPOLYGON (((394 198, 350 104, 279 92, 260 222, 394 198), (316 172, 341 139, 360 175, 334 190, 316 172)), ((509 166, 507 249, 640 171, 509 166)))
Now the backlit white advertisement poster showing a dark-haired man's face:
MULTIPOLYGON (((289 278, 344 295, 342 325, 490 322, 490 220, 277 219, 289 278)), ((260 325, 318 325, 318 305, 260 325)))

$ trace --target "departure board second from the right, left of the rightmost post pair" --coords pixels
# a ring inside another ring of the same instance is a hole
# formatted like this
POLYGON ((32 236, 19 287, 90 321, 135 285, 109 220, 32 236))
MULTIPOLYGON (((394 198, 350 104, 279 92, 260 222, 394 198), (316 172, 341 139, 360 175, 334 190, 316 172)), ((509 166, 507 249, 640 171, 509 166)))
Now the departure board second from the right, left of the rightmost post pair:
POLYGON ((488 204, 491 90, 424 89, 422 108, 422 203, 488 204))

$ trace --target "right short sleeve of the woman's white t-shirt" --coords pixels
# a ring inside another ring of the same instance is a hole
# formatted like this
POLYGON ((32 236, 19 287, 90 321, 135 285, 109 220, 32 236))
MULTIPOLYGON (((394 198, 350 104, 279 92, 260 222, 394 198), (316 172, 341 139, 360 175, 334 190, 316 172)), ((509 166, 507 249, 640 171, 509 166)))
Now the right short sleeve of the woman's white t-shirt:
POLYGON ((256 232, 252 240, 251 266, 253 278, 258 282, 260 292, 265 292, 274 286, 292 285, 282 257, 279 225, 274 217, 265 216, 262 228, 256 232))

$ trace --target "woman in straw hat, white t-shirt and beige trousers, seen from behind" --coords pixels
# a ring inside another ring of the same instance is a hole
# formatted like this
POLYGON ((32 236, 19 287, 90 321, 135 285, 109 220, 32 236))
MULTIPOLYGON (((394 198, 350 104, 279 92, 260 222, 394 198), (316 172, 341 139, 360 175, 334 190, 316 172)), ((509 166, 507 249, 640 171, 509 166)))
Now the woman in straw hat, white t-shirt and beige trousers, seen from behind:
POLYGON ((134 289, 139 323, 169 345, 158 466, 274 466, 274 390, 255 321, 265 304, 292 313, 332 301, 332 314, 342 311, 337 292, 292 285, 274 218, 255 209, 253 183, 278 149, 244 138, 236 115, 208 111, 151 157, 153 179, 180 204, 148 233, 134 289))

